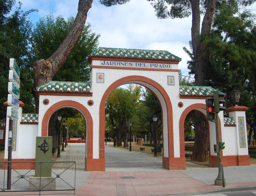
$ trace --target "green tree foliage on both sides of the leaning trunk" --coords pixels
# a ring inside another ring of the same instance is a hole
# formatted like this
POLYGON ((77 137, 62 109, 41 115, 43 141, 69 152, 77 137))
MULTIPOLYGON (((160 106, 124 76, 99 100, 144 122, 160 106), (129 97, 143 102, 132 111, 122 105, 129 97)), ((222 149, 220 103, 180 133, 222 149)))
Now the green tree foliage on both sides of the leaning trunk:
MULTIPOLYGON (((52 14, 44 16, 36 23, 32 33, 33 55, 31 62, 47 59, 60 46, 68 34, 75 18, 54 18, 52 14)), ((89 81, 88 55, 97 48, 99 35, 90 30, 90 24, 84 30, 74 50, 58 70, 53 80, 58 81, 89 81)))

